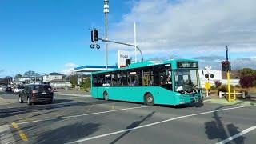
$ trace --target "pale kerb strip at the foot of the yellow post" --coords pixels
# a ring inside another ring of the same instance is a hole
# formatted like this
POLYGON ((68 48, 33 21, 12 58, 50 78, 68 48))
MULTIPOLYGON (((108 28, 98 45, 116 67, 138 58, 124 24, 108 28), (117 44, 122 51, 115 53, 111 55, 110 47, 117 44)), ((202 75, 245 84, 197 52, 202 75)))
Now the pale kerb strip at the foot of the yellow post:
POLYGON ((225 98, 209 98, 209 99, 206 99, 204 102, 218 103, 218 104, 222 104, 222 105, 238 104, 241 106, 256 106, 256 101, 240 100, 240 99, 236 99, 234 102, 227 102, 227 100, 225 98))

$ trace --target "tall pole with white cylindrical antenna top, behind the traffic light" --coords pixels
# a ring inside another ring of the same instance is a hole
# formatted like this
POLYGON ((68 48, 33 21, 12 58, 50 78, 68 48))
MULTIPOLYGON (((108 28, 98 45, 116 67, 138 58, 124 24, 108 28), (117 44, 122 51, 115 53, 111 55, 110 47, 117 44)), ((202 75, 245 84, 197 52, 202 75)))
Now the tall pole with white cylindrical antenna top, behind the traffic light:
MULTIPOLYGON (((110 12, 109 10, 109 0, 104 0, 104 9, 103 12, 105 14, 105 39, 107 40, 107 14, 110 12)), ((108 42, 106 42, 106 70, 108 67, 108 42)))

